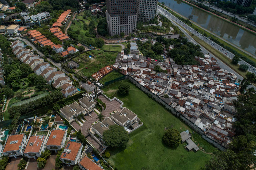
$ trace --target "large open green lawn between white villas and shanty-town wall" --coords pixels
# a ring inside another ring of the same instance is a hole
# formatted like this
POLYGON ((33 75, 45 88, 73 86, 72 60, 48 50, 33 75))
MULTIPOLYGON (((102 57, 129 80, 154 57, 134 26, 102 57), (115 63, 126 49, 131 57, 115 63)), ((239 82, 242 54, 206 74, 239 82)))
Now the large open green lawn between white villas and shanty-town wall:
MULTIPOLYGON (((181 169, 200 169, 204 167, 211 154, 202 151, 188 152, 183 146, 173 149, 162 143, 162 136, 165 127, 176 128, 179 132, 189 129, 186 124, 176 118, 164 107, 160 106, 152 98, 137 88, 128 80, 123 80, 130 84, 130 92, 127 96, 119 96, 118 99, 124 102, 127 107, 144 123, 144 125, 130 136, 130 140, 125 149, 110 149, 111 157, 108 161, 122 170, 140 170, 142 167, 149 167, 152 170, 181 170, 181 169)), ((108 96, 113 95, 120 82, 113 83, 104 88, 108 96)), ((215 147, 210 145, 198 133, 193 133, 192 140, 199 143, 206 152, 213 152, 215 147)))

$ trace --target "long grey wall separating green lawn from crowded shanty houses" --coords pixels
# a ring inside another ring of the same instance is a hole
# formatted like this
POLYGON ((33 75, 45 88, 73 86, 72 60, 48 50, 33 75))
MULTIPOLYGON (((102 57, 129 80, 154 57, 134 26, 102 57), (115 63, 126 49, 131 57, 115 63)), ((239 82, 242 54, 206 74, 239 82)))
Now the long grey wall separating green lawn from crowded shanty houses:
POLYGON ((183 115, 176 111, 174 108, 172 108, 168 103, 166 103, 165 101, 163 101, 161 98, 159 98, 158 96, 156 96, 154 93, 152 93, 151 91, 149 91, 147 88, 145 88, 144 86, 142 86, 140 83, 138 83, 136 80, 134 80, 130 75, 127 76, 127 78, 133 83, 135 84, 138 88, 140 88, 142 91, 144 91, 147 94, 150 94, 152 96, 153 99, 155 99, 157 102, 161 103, 166 109, 168 109, 169 111, 171 111, 174 115, 176 115, 178 118, 180 118, 181 120, 183 120, 187 125, 189 125, 192 129, 194 129, 196 132, 198 132, 202 138, 204 138, 206 141, 208 141, 209 143, 213 144, 215 147, 217 147, 218 149, 224 151, 226 148, 224 146, 222 146, 221 144, 219 144, 218 142, 216 142, 215 140, 213 140, 212 138, 210 138, 209 136, 204 134, 204 131, 202 131, 200 128, 198 128, 193 122, 191 122, 190 120, 188 120, 186 117, 183 117, 183 115))

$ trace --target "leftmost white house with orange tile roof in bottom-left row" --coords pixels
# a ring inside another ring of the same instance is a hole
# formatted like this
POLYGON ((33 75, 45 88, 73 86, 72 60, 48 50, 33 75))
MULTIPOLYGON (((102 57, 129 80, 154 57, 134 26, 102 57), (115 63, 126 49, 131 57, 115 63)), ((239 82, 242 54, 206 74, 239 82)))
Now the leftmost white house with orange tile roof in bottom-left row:
POLYGON ((6 139, 3 156, 15 157, 23 155, 23 149, 26 145, 27 137, 25 134, 9 135, 6 139))

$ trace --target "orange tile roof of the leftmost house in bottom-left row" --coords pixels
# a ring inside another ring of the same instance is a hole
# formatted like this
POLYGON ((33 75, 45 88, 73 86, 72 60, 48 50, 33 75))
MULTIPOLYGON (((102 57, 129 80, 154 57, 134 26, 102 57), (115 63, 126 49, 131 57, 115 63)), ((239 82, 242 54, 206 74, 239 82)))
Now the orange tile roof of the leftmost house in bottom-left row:
POLYGON ((19 150, 19 147, 22 143, 22 139, 25 134, 15 134, 15 135, 9 135, 6 144, 4 146, 3 152, 8 152, 12 150, 19 150), (11 141, 17 141, 17 143, 10 144, 11 141))

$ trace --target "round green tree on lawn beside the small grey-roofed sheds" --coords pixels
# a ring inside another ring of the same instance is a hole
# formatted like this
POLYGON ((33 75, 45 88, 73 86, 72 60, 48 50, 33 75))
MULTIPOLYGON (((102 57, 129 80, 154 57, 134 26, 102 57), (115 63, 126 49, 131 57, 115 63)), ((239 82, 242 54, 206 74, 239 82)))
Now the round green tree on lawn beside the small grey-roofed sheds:
POLYGON ((181 143, 181 136, 175 128, 167 129, 163 135, 163 142, 170 147, 178 147, 181 143))

